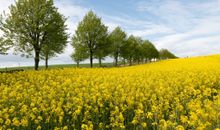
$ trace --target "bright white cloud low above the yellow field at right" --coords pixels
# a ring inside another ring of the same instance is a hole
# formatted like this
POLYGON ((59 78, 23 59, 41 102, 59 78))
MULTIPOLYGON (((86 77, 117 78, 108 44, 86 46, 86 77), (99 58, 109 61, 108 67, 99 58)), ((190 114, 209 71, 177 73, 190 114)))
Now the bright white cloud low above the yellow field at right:
POLYGON ((220 16, 206 16, 189 31, 161 37, 158 48, 168 48, 179 56, 220 53, 220 16))

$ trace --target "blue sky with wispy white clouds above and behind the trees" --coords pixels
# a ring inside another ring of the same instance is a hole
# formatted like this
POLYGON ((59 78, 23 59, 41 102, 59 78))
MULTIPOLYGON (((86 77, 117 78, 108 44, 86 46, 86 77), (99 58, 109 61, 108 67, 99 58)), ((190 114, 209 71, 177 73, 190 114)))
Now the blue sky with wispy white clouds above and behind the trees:
MULTIPOLYGON (((0 12, 13 2, 0 0, 0 12)), ((83 16, 93 10, 109 31, 120 26, 128 35, 149 39, 158 49, 167 48, 179 57, 220 53, 220 0, 55 0, 55 6, 68 17, 71 35, 83 16)), ((33 65, 33 59, 12 52, 0 56, 0 67, 33 65)), ((69 45, 64 54, 49 62, 73 63, 72 52, 69 45)))

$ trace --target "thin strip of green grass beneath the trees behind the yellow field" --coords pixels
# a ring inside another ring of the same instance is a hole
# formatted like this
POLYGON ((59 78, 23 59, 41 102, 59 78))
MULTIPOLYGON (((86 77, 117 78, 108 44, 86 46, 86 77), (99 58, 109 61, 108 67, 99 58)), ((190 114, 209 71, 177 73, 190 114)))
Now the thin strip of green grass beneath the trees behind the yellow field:
MULTIPOLYGON (((48 69, 55 69, 55 68, 74 68, 76 64, 59 64, 59 65, 49 65, 48 69)), ((79 64, 81 68, 90 68, 90 64, 79 64)), ((98 68, 99 64, 94 63, 93 67, 98 68)), ((113 67, 113 63, 102 63, 102 67, 113 67)), ((22 67, 5 67, 0 68, 0 71, 10 71, 16 69, 23 69, 23 70, 34 70, 34 66, 22 66, 22 67)), ((39 69, 45 69, 45 66, 39 66, 39 69)))

